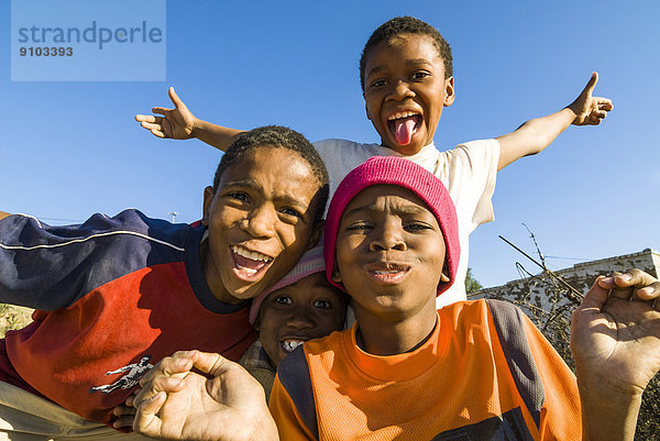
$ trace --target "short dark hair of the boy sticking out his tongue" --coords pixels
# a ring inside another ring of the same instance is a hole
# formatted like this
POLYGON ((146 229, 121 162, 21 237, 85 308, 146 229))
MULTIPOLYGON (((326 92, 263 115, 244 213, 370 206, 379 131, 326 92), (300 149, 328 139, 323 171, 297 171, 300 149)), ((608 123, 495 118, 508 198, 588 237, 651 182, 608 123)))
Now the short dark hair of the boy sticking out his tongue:
POLYGON ((362 55, 360 56, 360 85, 364 90, 364 67, 370 52, 381 42, 389 42, 393 38, 403 34, 427 35, 433 42, 433 46, 438 51, 438 55, 442 57, 444 63, 444 78, 453 75, 453 65, 451 56, 451 47, 447 40, 438 32, 438 30, 425 21, 414 16, 395 16, 394 19, 381 24, 374 33, 369 37, 362 55))

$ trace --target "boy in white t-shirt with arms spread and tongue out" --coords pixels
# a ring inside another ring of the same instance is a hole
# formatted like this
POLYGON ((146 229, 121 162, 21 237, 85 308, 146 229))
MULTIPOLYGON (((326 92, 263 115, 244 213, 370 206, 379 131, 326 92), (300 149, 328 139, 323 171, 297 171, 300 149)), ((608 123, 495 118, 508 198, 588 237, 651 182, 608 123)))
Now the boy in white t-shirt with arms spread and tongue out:
MULTIPOLYGON (((453 287, 438 307, 465 299, 469 235, 494 219, 491 198, 497 170, 546 148, 569 125, 597 125, 613 109, 606 98, 592 97, 597 74, 571 104, 527 121, 493 140, 460 144, 440 152, 433 135, 444 107, 454 101, 451 48, 440 33, 421 20, 400 16, 382 24, 369 38, 360 59, 366 115, 381 135, 381 145, 345 140, 314 143, 330 175, 330 195, 344 175, 372 156, 406 156, 442 180, 459 216, 461 266, 453 287)), ((174 109, 153 108, 156 115, 136 115, 160 137, 197 137, 221 151, 241 131, 196 118, 169 89, 174 109)))

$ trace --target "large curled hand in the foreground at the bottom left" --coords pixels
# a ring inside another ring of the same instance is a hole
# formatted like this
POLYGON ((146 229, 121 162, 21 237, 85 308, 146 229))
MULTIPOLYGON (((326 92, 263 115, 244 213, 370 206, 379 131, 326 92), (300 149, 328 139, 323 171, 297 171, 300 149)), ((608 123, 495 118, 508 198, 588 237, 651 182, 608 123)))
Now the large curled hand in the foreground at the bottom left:
POLYGON ((262 386, 219 354, 177 352, 140 384, 133 423, 139 433, 177 440, 278 439, 262 386))

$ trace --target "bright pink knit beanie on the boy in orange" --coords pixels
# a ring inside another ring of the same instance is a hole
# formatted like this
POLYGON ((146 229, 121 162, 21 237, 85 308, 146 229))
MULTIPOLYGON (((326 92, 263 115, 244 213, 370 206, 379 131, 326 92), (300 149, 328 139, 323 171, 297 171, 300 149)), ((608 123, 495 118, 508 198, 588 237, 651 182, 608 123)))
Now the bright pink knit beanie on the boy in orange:
POLYGON ((449 191, 438 177, 421 166, 399 156, 374 156, 350 172, 332 196, 326 219, 324 256, 326 276, 338 288, 345 291, 342 284, 332 280, 336 264, 337 234, 339 223, 349 202, 363 189, 374 185, 395 185, 411 190, 427 205, 438 219, 444 236, 444 269, 449 282, 438 286, 438 295, 444 293, 453 284, 459 267, 461 249, 459 245, 459 225, 457 211, 449 191))

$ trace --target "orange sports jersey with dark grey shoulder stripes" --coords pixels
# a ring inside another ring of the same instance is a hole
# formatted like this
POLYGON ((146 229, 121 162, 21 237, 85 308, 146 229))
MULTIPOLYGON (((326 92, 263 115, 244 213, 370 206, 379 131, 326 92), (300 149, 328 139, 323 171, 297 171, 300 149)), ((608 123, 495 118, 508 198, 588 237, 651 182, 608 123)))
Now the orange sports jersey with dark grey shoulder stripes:
POLYGON ((375 356, 351 330, 305 343, 277 371, 282 440, 579 440, 575 376, 515 306, 438 311, 414 352, 375 356))

